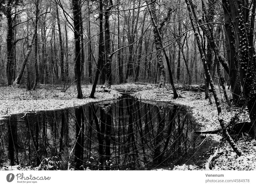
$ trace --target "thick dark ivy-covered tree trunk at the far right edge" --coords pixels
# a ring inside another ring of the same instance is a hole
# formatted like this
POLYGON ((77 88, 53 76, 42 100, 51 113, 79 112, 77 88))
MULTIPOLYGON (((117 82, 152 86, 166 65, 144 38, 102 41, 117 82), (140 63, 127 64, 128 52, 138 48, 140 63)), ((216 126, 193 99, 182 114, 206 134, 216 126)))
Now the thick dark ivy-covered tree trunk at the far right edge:
POLYGON ((248 8, 248 4, 241 4, 237 0, 230 0, 229 4, 236 31, 236 52, 238 53, 238 68, 245 97, 244 105, 248 107, 254 136, 256 136, 256 56, 253 44, 256 2, 252 1, 251 20, 248 20, 246 11, 242 11, 243 7, 248 8))

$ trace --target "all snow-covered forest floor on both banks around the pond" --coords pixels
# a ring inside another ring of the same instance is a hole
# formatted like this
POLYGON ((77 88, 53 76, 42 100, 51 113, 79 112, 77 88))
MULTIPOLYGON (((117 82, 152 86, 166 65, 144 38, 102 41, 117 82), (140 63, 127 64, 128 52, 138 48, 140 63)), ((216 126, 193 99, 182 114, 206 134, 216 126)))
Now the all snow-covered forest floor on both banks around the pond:
MULTIPOLYGON (((177 86, 179 87, 179 86, 177 86)), ((82 86, 84 99, 77 99, 76 86, 71 86, 66 92, 62 92, 61 86, 46 86, 39 85, 36 91, 28 91, 25 88, 13 88, 13 87, 0 87, 0 118, 24 112, 41 111, 41 110, 53 110, 67 107, 74 107, 84 105, 90 102, 98 102, 103 100, 114 100, 121 97, 119 92, 133 93, 132 97, 145 101, 161 101, 172 102, 174 104, 184 105, 189 107, 192 115, 196 119, 196 123, 201 125, 202 131, 210 131, 220 129, 218 122, 218 113, 216 105, 212 96, 213 104, 209 104, 208 99, 204 99, 204 92, 200 91, 184 91, 178 90, 178 93, 182 98, 173 99, 172 90, 170 85, 167 88, 158 88, 157 85, 145 84, 121 84, 112 86, 110 92, 104 92, 98 86, 96 88, 96 99, 90 99, 88 96, 91 92, 91 85, 82 86)), ((218 95, 221 100, 221 108, 223 112, 223 119, 226 124, 230 122, 230 119, 239 115, 237 122, 249 121, 247 111, 237 110, 229 106, 224 99, 222 90, 216 86, 218 95)), ((232 98, 228 92, 229 98, 232 98)), ((211 140, 220 141, 221 134, 204 134, 207 138, 205 142, 211 140)), ((238 157, 233 152, 228 142, 224 142, 220 146, 220 152, 217 157, 212 161, 213 170, 254 170, 256 169, 256 140, 252 139, 249 134, 241 133, 239 135, 232 136, 238 147, 243 151, 243 155, 238 157)), ((207 158, 213 155, 215 149, 213 147, 201 156, 207 158)), ((199 157, 201 157, 199 156, 199 157)), ((206 162, 206 161, 205 161, 206 162)), ((165 168, 164 168, 165 169, 165 168)), ((197 167, 195 165, 178 165, 174 167, 175 170, 204 170, 204 167, 197 167)), ((163 169, 158 169, 163 170, 163 169)), ((167 169, 168 170, 168 169, 167 169)))

